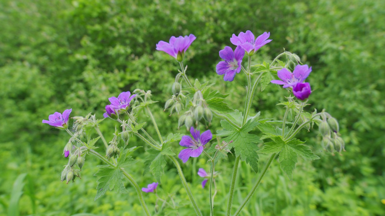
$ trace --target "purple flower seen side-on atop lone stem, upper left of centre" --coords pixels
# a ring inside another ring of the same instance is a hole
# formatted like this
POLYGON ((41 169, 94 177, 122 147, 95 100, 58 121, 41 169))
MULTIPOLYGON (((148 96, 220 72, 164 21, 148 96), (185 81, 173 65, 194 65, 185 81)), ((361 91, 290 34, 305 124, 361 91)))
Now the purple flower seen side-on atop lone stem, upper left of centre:
POLYGON ((177 38, 172 36, 170 38, 170 43, 162 40, 159 41, 156 45, 156 50, 166 52, 176 58, 177 61, 182 61, 184 53, 195 39, 196 37, 193 34, 190 34, 189 36, 186 35, 184 37, 179 36, 177 38))

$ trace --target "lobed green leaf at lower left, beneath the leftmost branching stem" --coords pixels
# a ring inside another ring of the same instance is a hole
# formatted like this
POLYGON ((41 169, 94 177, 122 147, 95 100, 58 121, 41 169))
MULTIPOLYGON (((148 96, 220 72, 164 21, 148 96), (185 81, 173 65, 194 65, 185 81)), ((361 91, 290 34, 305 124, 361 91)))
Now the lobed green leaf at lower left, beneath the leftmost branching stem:
POLYGON ((120 169, 110 168, 109 166, 100 166, 99 171, 95 173, 94 176, 100 177, 97 180, 98 185, 96 187, 97 191, 94 200, 104 195, 107 189, 114 189, 115 193, 128 193, 127 189, 124 187, 124 177, 120 169))

